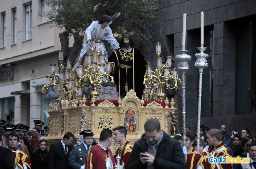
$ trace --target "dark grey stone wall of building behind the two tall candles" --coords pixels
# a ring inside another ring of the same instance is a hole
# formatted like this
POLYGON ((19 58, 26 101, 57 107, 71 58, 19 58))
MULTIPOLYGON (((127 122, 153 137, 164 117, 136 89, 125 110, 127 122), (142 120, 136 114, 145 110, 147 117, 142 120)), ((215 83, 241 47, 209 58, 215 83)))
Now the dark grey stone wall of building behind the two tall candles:
MULTIPOLYGON (((243 102, 236 102, 237 44, 243 43, 237 42, 237 27, 255 18, 256 1, 159 0, 159 4, 164 34, 174 56, 181 50, 183 13, 187 14, 186 49, 192 60, 189 62, 186 82, 186 125, 196 131, 199 75, 194 63, 195 54, 199 52, 196 47, 200 45, 200 12, 204 11, 204 44, 208 47, 205 53, 209 54, 209 58, 208 67, 203 73, 203 85, 212 90, 212 101, 209 100, 212 105, 202 105, 201 113, 204 116, 201 124, 219 129, 225 123, 228 132, 241 132, 242 128, 248 128, 251 136, 256 135, 256 114, 236 113, 236 106, 243 106, 243 102)), ((145 32, 149 35, 148 29, 145 32)), ((151 41, 146 41, 143 52, 145 59, 155 65, 155 47, 151 41)), ((209 92, 206 87, 203 87, 203 92, 209 92)))

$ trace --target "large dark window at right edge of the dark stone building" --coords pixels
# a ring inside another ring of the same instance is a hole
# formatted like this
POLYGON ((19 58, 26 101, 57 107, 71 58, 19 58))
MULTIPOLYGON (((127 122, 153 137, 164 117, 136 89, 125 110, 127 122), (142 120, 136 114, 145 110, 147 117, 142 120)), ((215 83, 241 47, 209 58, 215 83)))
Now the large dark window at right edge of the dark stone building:
POLYGON ((236 30, 236 114, 250 114, 256 112, 256 19, 236 30))

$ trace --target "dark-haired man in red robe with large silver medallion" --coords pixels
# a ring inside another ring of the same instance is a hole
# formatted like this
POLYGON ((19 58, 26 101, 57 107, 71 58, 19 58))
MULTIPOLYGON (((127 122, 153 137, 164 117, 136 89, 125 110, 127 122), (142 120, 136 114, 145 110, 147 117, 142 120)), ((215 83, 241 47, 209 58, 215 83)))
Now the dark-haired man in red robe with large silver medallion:
POLYGON ((115 158, 109 148, 112 143, 113 132, 103 129, 100 132, 99 143, 93 146, 85 158, 85 169, 107 169, 115 167, 115 158))

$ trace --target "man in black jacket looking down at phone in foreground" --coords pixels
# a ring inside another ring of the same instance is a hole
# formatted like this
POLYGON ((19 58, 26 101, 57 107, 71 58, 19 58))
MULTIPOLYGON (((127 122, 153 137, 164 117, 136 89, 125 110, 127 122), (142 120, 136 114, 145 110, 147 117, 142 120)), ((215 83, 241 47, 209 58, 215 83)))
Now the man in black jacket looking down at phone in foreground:
POLYGON ((126 169, 185 169, 186 162, 180 143, 163 130, 156 119, 144 124, 145 133, 130 154, 126 169))

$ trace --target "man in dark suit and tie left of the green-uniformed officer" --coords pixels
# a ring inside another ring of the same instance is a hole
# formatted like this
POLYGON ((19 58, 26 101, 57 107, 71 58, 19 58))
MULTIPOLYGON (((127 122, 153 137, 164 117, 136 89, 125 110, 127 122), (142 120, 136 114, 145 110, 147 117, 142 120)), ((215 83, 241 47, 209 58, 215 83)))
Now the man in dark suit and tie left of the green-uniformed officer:
POLYGON ((68 158, 72 151, 72 142, 75 136, 67 132, 60 142, 50 146, 49 151, 49 169, 69 169, 68 158))

